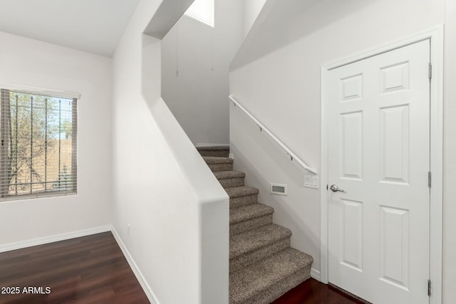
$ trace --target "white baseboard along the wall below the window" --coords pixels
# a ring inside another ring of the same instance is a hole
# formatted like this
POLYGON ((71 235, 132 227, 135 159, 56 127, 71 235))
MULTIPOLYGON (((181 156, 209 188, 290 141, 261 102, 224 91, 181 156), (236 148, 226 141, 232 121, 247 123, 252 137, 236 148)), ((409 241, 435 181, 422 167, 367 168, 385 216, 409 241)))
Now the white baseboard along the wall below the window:
POLYGON ((0 252, 11 251, 16 249, 27 248, 31 246, 43 245, 45 243, 53 243, 65 241, 68 239, 79 238, 81 236, 90 236, 90 234, 100 234, 101 232, 111 231, 112 226, 100 226, 90 229, 68 232, 67 234, 55 234, 53 236, 45 236, 43 238, 31 239, 27 241, 19 241, 15 243, 7 243, 0 245, 0 252))

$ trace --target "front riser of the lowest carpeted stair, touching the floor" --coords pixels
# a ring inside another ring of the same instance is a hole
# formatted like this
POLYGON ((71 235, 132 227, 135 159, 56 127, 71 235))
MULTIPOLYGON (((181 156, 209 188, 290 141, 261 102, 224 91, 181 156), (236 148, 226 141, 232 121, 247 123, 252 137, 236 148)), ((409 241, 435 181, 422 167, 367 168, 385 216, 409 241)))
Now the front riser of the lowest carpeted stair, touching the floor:
POLYGON ((291 276, 286 277, 284 280, 274 284, 274 286, 269 287, 265 290, 262 290, 261 293, 257 293, 252 295, 252 297, 248 298, 247 300, 242 301, 232 301, 229 299, 229 304, 269 304, 274 300, 280 298, 281 295, 286 293, 288 290, 296 287, 297 285, 301 284, 302 282, 306 281, 311 277, 311 266, 307 266, 305 268, 301 268, 296 273, 292 274, 291 276))

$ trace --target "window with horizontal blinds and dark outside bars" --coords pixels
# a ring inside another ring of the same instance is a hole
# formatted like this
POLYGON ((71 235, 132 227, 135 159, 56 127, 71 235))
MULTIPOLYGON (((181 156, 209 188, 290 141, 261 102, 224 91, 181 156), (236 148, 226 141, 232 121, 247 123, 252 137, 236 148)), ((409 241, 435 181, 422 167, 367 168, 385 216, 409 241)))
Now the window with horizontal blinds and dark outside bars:
POLYGON ((76 104, 1 89, 0 200, 76 193, 76 104))

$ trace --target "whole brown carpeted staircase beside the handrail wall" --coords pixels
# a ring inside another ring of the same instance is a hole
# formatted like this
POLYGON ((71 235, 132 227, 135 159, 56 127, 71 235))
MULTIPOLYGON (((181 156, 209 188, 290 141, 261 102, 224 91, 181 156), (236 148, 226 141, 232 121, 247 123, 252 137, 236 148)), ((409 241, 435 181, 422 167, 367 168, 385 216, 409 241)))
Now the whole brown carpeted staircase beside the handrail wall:
POLYGON ((229 147, 197 147, 229 195, 229 304, 271 303, 310 278, 313 258, 290 247, 291 231, 272 223, 258 189, 233 171, 229 147))

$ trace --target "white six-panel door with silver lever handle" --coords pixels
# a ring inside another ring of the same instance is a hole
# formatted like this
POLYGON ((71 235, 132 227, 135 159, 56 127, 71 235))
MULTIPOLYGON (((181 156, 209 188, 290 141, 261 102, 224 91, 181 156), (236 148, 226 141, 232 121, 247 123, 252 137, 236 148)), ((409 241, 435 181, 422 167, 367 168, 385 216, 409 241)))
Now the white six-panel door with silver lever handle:
POLYGON ((429 303, 430 40, 328 72, 328 281, 429 303))

